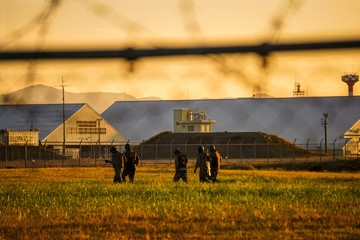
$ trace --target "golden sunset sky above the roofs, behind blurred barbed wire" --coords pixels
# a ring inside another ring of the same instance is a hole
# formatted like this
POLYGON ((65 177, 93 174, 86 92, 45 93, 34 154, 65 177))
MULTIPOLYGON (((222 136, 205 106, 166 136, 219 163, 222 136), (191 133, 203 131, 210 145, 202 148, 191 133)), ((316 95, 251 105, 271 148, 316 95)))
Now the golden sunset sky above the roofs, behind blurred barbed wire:
MULTIPOLYGON (((0 51, 360 39, 359 0, 1 0, 0 51)), ((360 50, 123 60, 0 62, 0 93, 33 84, 162 99, 347 95, 360 50)), ((354 86, 354 95, 360 95, 354 86)))

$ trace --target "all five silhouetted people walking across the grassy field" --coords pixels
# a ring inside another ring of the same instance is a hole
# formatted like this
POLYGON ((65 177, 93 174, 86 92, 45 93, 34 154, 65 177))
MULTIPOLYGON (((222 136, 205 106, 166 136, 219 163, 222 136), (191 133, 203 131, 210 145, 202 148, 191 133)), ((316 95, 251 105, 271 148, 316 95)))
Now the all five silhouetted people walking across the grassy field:
MULTIPOLYGON (((139 164, 138 154, 131 149, 130 144, 125 145, 124 154, 118 152, 115 147, 110 148, 111 160, 106 160, 105 163, 111 163, 115 170, 114 183, 125 182, 126 176, 129 176, 130 182, 134 181, 136 166, 139 164), (124 168, 121 173, 122 168, 124 168)), ((184 182, 187 180, 187 157, 181 152, 179 148, 175 151, 175 175, 174 182, 182 179, 184 182)), ((209 153, 205 152, 204 146, 198 146, 198 155, 195 164, 194 173, 200 168, 199 180, 200 182, 217 182, 217 175, 220 169, 222 157, 220 153, 212 145, 209 147, 209 153)))

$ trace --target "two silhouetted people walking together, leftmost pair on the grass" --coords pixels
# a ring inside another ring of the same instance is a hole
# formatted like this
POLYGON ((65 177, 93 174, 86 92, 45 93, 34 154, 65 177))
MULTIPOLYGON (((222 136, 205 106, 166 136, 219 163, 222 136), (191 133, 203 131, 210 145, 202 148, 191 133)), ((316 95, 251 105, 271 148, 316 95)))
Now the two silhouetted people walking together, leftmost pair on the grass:
POLYGON ((126 176, 129 176, 130 182, 134 182, 136 166, 139 164, 139 156, 131 149, 130 144, 125 145, 124 154, 118 152, 115 147, 110 148, 111 160, 106 160, 105 163, 111 163, 115 170, 114 183, 121 183, 126 181, 126 176), (124 170, 121 173, 121 169, 124 170))

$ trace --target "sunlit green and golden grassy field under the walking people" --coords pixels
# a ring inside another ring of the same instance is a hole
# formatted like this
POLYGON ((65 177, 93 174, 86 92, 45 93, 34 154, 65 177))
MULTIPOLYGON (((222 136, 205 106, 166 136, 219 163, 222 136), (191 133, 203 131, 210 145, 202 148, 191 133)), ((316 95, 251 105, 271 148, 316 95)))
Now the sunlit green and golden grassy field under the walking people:
POLYGON ((173 166, 0 169, 0 239, 360 239, 360 174, 173 166))

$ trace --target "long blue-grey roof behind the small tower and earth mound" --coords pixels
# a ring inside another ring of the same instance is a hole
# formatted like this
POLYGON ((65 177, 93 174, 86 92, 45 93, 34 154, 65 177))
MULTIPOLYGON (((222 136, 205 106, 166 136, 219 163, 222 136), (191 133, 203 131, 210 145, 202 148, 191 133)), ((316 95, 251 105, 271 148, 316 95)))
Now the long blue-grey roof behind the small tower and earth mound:
POLYGON ((328 113, 329 142, 360 118, 359 96, 115 102, 102 116, 131 141, 142 141, 173 131, 174 109, 194 107, 207 108, 208 119, 216 120, 213 132, 262 131, 297 143, 324 138, 323 113, 328 113))

